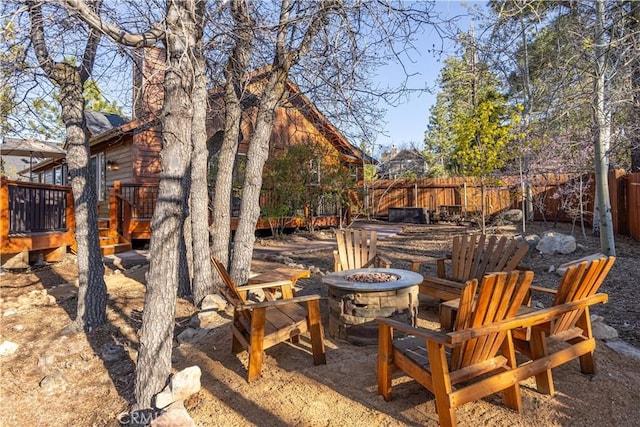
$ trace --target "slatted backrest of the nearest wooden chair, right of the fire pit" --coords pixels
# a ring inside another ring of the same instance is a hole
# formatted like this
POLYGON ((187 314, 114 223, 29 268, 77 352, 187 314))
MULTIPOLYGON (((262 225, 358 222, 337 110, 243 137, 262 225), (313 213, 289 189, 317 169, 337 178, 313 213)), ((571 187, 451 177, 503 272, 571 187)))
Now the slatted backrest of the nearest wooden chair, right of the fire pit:
MULTIPOLYGON (((476 328, 515 316, 532 281, 531 271, 491 273, 482 279, 477 296, 477 279, 468 281, 460 298, 455 329, 476 328)), ((494 357, 505 337, 506 332, 497 332, 457 345, 450 369, 454 371, 494 357)))

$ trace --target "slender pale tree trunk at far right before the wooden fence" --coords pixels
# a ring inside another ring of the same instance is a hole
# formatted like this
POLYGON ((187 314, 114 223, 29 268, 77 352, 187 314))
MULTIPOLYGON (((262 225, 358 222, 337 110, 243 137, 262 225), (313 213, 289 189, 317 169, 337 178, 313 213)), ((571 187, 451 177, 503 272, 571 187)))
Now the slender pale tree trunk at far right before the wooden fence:
POLYGON ((608 45, 604 30, 604 0, 596 1, 595 27, 595 87, 594 121, 595 135, 595 175, 596 205, 600 223, 600 250, 608 256, 615 256, 616 247, 613 234, 613 218, 609 200, 609 146, 611 143, 611 112, 605 101, 606 91, 606 55, 608 45))

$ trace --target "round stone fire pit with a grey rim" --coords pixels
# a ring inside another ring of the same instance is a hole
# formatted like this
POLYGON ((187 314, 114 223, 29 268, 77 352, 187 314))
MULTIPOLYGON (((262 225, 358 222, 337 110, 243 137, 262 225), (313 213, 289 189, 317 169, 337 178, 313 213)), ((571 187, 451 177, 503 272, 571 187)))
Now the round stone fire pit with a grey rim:
POLYGON ((359 268, 322 279, 329 293, 329 335, 356 345, 375 345, 376 317, 415 325, 418 273, 395 268, 359 268))

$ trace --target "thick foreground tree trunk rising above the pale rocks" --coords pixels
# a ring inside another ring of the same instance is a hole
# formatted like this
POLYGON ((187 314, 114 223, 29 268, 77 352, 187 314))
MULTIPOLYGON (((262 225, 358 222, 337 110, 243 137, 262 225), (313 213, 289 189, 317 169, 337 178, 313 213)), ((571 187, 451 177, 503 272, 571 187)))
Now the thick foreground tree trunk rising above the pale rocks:
POLYGON ((152 254, 147 277, 140 349, 136 370, 136 405, 151 406, 171 373, 180 241, 185 218, 186 178, 191 159, 193 49, 198 31, 196 0, 167 3, 167 70, 164 80, 162 172, 151 221, 152 254))

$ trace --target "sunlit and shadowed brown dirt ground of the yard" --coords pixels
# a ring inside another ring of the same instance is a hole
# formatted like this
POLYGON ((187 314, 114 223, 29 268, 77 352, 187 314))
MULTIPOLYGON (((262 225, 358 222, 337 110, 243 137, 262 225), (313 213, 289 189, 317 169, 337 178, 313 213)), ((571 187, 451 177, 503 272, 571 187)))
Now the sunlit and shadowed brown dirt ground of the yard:
MULTIPOLYGON (((528 233, 540 233, 534 224, 528 233)), ((453 224, 404 226, 402 233, 379 242, 393 266, 408 267, 416 256, 441 256, 452 235, 468 228, 453 224)), ((514 234, 514 226, 494 232, 514 234)), ((570 233, 567 226, 559 231, 570 233)), ((527 233, 527 234, 528 234, 527 233)), ((304 240, 313 236, 300 234, 304 240)), ((326 237, 326 232, 325 232, 326 237)), ((559 278, 551 266, 598 252, 597 238, 576 236, 580 247, 570 255, 541 256, 529 252, 524 264, 535 283, 554 287, 559 278)), ((315 237, 313 237, 315 238, 315 237)), ((609 303, 593 312, 616 328, 626 343, 640 347, 640 242, 618 237, 618 258, 601 290, 609 303)), ((297 263, 332 268, 330 250, 289 255, 297 263)), ((270 259, 254 259, 256 272, 282 266, 270 259)), ((147 267, 108 270, 109 324, 88 334, 65 334, 75 317, 73 284, 77 269, 72 257, 55 265, 0 276, 2 310, 0 342, 19 345, 12 355, 0 356, 0 425, 102 426, 119 425, 134 395, 134 360, 143 309, 147 267), (46 291, 46 292, 45 292, 46 291), (105 357, 105 346, 120 344, 125 356, 105 357)), ((435 274, 425 266, 423 274, 435 274)), ((321 275, 298 282, 300 294, 326 297, 321 275)), ((322 301, 325 331, 326 298, 322 301)), ((176 332, 188 327, 193 306, 179 300, 176 332)), ((437 304, 421 301, 419 324, 437 327, 437 304)), ((203 330, 191 343, 175 342, 175 370, 197 365, 202 370, 201 391, 189 399, 187 409, 197 425, 395 426, 436 425, 434 399, 406 377, 394 381, 391 402, 376 393, 376 348, 337 341, 326 336, 327 364, 313 366, 309 341, 281 344, 266 353, 263 377, 248 384, 246 354, 230 351, 229 322, 203 330)), ((523 411, 517 414, 502 404, 500 395, 466 404, 457 410, 461 425, 492 426, 627 426, 640 420, 640 360, 613 351, 599 341, 597 374, 583 375, 577 361, 554 370, 555 397, 538 394, 533 380, 523 382, 523 411)))

